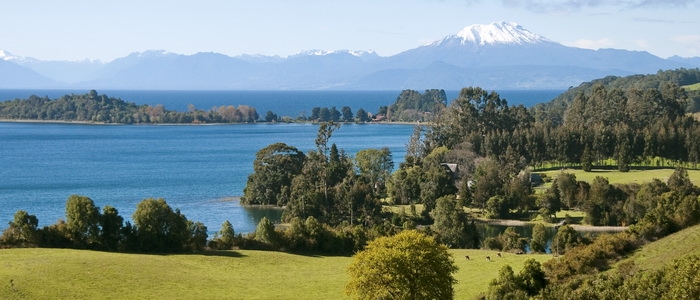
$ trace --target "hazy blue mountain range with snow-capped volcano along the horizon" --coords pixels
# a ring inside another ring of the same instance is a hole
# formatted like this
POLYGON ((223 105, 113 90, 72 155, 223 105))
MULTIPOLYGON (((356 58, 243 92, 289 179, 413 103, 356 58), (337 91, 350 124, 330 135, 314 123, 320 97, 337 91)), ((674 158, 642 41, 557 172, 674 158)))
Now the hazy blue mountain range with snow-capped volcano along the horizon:
POLYGON ((399 54, 310 50, 280 57, 132 53, 111 62, 42 61, 0 51, 0 88, 401 90, 566 89, 608 75, 700 67, 700 57, 564 46, 513 22, 467 26, 399 54))

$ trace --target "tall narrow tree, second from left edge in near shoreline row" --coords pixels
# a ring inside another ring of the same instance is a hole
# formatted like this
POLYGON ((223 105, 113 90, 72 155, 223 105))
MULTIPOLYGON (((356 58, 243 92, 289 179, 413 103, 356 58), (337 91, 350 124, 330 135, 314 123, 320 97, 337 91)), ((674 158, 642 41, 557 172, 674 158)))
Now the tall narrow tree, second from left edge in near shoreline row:
POLYGON ((99 240, 100 210, 92 199, 71 195, 66 201, 66 226, 77 247, 88 247, 99 240))

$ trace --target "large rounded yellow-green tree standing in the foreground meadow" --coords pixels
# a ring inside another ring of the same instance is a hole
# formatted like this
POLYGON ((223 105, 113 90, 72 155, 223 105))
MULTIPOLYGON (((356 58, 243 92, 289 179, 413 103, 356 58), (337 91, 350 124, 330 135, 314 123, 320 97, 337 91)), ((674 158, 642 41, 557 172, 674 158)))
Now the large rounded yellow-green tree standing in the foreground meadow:
POLYGON ((354 255, 345 293, 354 299, 452 299, 456 271, 446 246, 407 230, 377 238, 354 255))

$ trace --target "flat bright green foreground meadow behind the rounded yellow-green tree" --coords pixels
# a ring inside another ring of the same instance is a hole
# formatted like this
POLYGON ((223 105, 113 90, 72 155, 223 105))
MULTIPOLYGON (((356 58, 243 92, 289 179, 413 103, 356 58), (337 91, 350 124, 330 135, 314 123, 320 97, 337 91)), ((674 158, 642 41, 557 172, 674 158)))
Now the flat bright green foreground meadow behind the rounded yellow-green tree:
MULTIPOLYGON (((505 264, 549 255, 454 250, 456 298, 485 292, 505 264), (467 261, 464 256, 472 260, 467 261), (485 257, 492 257, 487 262, 485 257)), ((67 249, 0 250, 2 299, 347 299, 351 257, 265 251, 145 255, 67 249)))

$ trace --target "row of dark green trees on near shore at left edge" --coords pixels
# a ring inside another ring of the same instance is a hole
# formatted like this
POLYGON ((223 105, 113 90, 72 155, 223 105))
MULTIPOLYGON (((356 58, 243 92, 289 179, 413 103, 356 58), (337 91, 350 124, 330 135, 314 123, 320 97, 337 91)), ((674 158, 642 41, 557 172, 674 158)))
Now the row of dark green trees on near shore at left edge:
POLYGON ((89 197, 71 195, 66 201, 66 221, 38 228, 36 216, 18 211, 0 242, 15 247, 159 253, 200 251, 207 244, 206 226, 188 220, 164 199, 144 199, 132 220, 133 225, 124 222, 117 209, 108 205, 100 213, 89 197))

